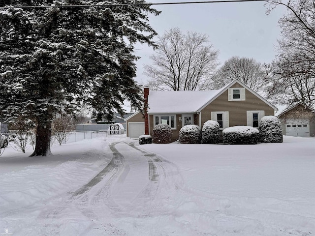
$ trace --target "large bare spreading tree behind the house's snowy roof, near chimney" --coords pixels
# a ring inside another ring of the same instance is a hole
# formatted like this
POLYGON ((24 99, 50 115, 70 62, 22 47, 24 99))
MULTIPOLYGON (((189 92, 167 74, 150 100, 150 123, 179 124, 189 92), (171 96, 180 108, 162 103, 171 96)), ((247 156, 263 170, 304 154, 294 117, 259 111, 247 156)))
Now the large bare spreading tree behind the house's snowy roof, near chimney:
POLYGON ((219 51, 209 44, 209 37, 197 32, 183 34, 172 28, 158 37, 158 49, 145 65, 153 90, 205 90, 218 66, 219 51))

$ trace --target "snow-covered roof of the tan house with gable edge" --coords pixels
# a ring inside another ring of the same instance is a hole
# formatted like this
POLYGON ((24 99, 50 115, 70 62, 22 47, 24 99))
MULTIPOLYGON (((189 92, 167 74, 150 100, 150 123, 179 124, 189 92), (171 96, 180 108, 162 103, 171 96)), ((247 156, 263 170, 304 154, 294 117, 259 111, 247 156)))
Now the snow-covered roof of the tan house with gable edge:
POLYGON ((242 85, 262 101, 274 108, 275 111, 278 110, 274 105, 244 83, 239 80, 234 80, 219 90, 150 91, 148 97, 148 114, 185 114, 200 112, 235 83, 242 85))

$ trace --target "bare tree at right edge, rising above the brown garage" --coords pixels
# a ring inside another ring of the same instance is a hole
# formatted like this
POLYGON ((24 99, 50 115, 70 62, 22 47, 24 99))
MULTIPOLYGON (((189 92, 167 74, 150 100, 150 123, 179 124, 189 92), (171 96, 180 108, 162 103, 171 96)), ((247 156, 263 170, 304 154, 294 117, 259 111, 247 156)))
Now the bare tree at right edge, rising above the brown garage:
POLYGON ((276 59, 270 65, 273 75, 271 95, 284 104, 301 101, 315 104, 315 0, 272 0, 269 14, 284 6, 287 13, 279 20, 282 39, 276 59))

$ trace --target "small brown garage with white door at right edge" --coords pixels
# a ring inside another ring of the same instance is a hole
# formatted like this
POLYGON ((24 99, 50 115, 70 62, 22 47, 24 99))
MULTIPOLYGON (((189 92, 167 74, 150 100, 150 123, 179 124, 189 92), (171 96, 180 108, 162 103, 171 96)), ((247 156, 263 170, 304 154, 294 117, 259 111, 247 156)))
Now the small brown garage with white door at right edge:
POLYGON ((292 105, 278 118, 285 135, 315 137, 315 110, 302 102, 292 105))

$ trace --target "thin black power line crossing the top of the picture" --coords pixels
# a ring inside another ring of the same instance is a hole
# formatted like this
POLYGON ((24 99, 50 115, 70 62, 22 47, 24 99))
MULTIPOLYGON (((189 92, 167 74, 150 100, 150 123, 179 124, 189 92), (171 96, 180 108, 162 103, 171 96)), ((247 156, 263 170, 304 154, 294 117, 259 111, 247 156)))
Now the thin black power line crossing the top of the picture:
POLYGON ((212 1, 179 1, 179 2, 146 2, 146 3, 121 3, 121 4, 91 4, 91 5, 52 5, 52 6, 0 6, 0 9, 12 8, 70 8, 70 7, 109 7, 109 6, 140 6, 140 5, 175 5, 175 4, 199 4, 199 3, 227 3, 227 2, 249 2, 249 1, 268 1, 268 0, 212 0, 212 1))

